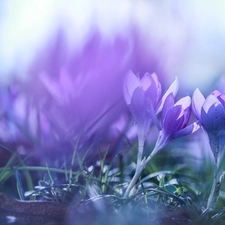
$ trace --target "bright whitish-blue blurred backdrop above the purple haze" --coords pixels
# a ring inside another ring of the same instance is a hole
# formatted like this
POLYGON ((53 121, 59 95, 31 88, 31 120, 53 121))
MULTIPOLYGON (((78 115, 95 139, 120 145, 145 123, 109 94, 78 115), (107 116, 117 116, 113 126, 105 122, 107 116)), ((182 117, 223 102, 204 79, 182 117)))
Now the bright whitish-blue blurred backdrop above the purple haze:
MULTIPOLYGON (((1 1, 0 10, 0 74, 4 83, 15 76, 31 76, 28 68, 35 58, 54 51, 54 47, 58 52, 52 63, 65 66, 97 35, 98 47, 110 46, 111 54, 113 44, 118 39, 124 41, 123 63, 130 57, 141 61, 139 72, 160 67, 170 81, 178 76, 181 85, 191 89, 207 88, 224 73, 222 0, 22 0, 1 1), (60 43, 55 43, 57 39, 60 43)), ((108 52, 108 57, 111 54, 108 52)))

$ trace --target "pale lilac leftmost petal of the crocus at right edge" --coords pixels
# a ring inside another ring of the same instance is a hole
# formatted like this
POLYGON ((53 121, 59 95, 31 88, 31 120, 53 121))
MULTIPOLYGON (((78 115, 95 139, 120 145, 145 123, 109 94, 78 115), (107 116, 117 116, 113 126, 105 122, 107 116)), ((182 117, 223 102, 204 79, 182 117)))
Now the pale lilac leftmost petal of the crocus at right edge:
POLYGON ((201 109, 205 102, 205 97, 202 95, 200 90, 197 88, 192 96, 192 109, 198 120, 201 118, 201 109))

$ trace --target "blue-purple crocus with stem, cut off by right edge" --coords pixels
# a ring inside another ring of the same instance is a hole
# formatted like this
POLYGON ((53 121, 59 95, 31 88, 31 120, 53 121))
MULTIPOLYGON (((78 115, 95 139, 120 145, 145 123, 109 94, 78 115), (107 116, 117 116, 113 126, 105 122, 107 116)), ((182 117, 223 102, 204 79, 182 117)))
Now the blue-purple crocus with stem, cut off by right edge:
POLYGON ((225 154, 225 95, 215 90, 206 99, 196 89, 192 98, 193 111, 209 138, 214 155, 214 179, 207 209, 214 210, 223 180, 225 154))

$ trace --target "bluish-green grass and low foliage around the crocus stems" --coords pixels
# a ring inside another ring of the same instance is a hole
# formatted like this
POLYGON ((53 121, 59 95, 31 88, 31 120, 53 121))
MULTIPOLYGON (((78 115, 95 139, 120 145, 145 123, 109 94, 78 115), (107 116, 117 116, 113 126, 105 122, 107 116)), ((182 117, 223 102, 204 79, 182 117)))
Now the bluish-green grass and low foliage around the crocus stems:
POLYGON ((223 195, 216 211, 204 209, 208 194, 204 187, 210 187, 210 180, 205 178, 211 171, 207 159, 201 162, 204 170, 198 170, 186 163, 195 160, 187 152, 186 161, 183 153, 175 152, 163 151, 154 157, 126 199, 123 194, 135 171, 133 154, 121 152, 109 161, 108 148, 99 151, 98 159, 87 164, 90 149, 81 155, 75 146, 70 160, 65 157, 60 168, 48 164, 26 166, 26 160, 14 153, 1 168, 0 183, 6 190, 8 182, 14 180, 21 200, 55 201, 76 206, 87 215, 94 212, 97 216, 92 224, 96 225, 102 220, 122 225, 224 224, 223 195), (158 163, 160 157, 163 164, 158 163), (35 186, 32 186, 35 181, 31 173, 41 175, 35 186))

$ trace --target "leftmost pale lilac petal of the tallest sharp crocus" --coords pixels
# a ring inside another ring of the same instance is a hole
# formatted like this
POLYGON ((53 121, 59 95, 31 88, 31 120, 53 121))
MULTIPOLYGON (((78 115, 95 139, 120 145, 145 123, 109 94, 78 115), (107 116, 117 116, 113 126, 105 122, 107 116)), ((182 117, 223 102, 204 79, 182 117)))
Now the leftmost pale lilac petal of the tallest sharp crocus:
POLYGON ((134 90, 140 86, 140 79, 132 71, 129 71, 125 77, 123 89, 124 99, 127 105, 131 103, 134 90))

